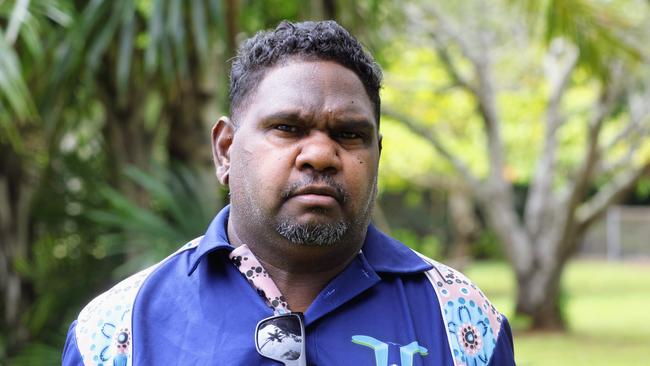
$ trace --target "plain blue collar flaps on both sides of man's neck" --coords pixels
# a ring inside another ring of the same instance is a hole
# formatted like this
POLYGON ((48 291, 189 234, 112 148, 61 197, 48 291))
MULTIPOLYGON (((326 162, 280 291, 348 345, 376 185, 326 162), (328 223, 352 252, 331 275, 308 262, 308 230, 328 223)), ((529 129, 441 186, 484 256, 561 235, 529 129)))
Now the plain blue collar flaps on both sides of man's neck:
MULTIPOLYGON (((227 205, 212 220, 197 249, 190 255, 188 276, 194 272, 206 254, 216 250, 230 252, 234 249, 228 241, 229 215, 230 205, 227 205)), ((372 224, 368 227, 362 253, 376 272, 411 274, 433 268, 431 264, 425 262, 414 251, 380 232, 372 224)))

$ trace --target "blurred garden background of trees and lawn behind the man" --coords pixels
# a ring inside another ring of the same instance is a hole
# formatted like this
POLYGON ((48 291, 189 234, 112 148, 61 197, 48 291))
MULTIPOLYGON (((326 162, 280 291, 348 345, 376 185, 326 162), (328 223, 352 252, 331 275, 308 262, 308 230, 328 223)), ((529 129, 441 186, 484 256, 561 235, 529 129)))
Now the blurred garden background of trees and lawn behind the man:
POLYGON ((381 63, 374 222, 465 271, 519 365, 650 359, 650 2, 0 0, 0 364, 227 200, 229 60, 336 19, 381 63))

